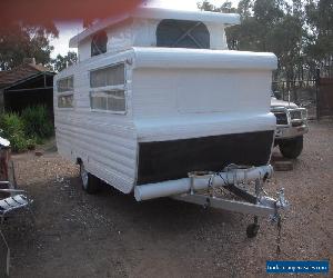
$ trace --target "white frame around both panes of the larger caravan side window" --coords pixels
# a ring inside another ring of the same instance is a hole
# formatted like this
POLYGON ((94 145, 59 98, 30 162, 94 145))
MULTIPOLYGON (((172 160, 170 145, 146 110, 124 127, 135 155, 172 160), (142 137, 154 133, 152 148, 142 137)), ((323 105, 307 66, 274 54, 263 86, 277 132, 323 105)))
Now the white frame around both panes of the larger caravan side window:
POLYGON ((99 68, 94 68, 89 70, 89 87, 90 87, 90 91, 89 91, 89 107, 90 107, 90 111, 91 112, 102 112, 102 113, 112 113, 112 115, 127 115, 128 113, 128 79, 127 79, 127 63, 125 61, 120 61, 120 62, 115 62, 112 64, 105 64, 99 68), (123 64, 123 85, 114 85, 114 86, 104 86, 104 87, 91 87, 91 72, 92 71, 97 71, 97 70, 102 70, 102 69, 108 69, 111 67, 117 67, 119 64, 123 64), (91 107, 91 96, 94 92, 108 92, 108 91, 123 91, 124 95, 124 111, 115 111, 115 110, 108 110, 108 109, 98 109, 98 108, 92 108, 91 107))

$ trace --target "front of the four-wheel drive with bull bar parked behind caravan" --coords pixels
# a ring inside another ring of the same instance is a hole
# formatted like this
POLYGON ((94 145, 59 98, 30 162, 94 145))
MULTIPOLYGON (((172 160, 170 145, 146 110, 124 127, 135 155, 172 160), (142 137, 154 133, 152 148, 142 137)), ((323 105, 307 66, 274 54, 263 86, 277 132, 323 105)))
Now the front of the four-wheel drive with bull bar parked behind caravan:
POLYGON ((271 111, 276 117, 274 146, 285 158, 296 158, 303 150, 303 135, 309 131, 307 111, 295 103, 271 98, 271 111))

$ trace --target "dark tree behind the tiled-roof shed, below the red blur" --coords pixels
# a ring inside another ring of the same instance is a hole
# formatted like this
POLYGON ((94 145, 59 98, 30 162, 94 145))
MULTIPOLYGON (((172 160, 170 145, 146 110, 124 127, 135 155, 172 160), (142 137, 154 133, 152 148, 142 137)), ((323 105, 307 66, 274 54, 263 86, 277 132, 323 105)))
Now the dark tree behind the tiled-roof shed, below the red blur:
POLYGON ((53 47, 50 39, 58 37, 54 23, 31 26, 24 22, 11 22, 0 26, 0 70, 10 70, 33 57, 38 63, 48 66, 53 47))

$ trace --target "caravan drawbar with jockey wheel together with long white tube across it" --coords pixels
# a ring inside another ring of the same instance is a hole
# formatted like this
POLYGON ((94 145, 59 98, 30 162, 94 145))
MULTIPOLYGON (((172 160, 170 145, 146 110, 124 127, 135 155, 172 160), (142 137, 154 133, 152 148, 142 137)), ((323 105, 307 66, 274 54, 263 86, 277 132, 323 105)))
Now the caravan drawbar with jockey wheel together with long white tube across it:
POLYGON ((263 185, 272 173, 272 166, 230 165, 220 172, 193 171, 188 173, 189 178, 137 186, 134 196, 138 201, 171 197, 206 208, 254 215, 254 222, 249 225, 246 234, 248 237, 255 237, 259 216, 270 216, 281 228, 280 210, 289 207, 283 188, 276 198, 269 197, 264 191, 263 185), (232 192, 236 199, 225 198, 224 190, 232 192))

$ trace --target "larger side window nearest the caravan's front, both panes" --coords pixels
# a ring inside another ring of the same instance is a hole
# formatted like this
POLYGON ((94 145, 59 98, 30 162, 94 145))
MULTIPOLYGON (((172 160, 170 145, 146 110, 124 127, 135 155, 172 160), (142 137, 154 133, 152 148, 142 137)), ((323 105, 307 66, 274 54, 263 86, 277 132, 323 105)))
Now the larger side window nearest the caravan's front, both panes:
POLYGON ((124 63, 112 64, 90 71, 90 108, 99 111, 124 113, 125 105, 125 67, 124 63))

